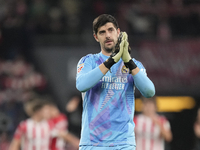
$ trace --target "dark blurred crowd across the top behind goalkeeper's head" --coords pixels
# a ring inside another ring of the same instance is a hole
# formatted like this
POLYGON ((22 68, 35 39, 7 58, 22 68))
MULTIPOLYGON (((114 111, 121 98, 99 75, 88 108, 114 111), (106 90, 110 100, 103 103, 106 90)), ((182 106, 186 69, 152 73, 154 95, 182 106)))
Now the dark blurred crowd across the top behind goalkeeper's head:
POLYGON ((114 14, 121 28, 137 36, 200 34, 199 0, 1 0, 0 8, 1 36, 8 29, 20 34, 26 30, 32 34, 80 35, 103 13, 114 14))

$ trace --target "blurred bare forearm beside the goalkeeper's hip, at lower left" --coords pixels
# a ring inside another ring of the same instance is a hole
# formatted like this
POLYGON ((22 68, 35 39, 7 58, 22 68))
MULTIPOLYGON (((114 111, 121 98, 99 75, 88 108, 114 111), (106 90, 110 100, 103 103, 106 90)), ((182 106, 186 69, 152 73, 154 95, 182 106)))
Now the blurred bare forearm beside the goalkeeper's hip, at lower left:
POLYGON ((63 138, 67 143, 70 143, 74 148, 79 148, 80 140, 69 132, 60 132, 59 137, 63 138))

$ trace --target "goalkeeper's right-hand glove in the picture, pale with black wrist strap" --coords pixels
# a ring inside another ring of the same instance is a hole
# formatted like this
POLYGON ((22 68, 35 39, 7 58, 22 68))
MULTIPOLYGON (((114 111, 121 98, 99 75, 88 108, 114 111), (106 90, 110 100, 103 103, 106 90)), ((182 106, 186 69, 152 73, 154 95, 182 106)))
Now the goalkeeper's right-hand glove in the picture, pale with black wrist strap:
POLYGON ((131 58, 130 46, 128 43, 128 35, 126 34, 126 32, 123 32, 123 40, 124 40, 124 50, 122 54, 122 60, 124 61, 124 65, 126 66, 126 68, 129 68, 129 70, 132 71, 137 67, 137 65, 131 58))

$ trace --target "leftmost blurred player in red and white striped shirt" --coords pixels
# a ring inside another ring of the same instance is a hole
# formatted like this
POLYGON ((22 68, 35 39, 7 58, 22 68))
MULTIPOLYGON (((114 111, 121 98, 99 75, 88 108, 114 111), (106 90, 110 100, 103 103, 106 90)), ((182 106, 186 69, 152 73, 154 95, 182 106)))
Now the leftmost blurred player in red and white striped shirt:
POLYGON ((52 125, 44 120, 43 107, 39 99, 25 104, 30 118, 18 125, 9 150, 49 150, 52 125))

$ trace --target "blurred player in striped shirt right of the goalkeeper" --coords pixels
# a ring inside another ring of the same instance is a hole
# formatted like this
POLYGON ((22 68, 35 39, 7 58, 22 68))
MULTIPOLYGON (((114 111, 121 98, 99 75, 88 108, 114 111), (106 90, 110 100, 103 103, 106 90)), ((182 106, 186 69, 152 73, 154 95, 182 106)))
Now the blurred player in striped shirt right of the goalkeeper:
POLYGON ((136 150, 164 150, 172 140, 168 120, 157 114, 156 98, 142 97, 142 113, 134 117, 136 150))

